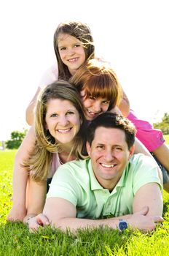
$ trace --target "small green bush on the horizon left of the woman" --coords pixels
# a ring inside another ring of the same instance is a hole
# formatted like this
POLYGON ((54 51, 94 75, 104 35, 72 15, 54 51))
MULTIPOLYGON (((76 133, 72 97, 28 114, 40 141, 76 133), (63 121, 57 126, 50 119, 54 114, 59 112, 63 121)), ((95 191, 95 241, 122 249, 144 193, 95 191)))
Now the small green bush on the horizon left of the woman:
POLYGON ((6 147, 9 149, 19 148, 20 144, 25 138, 26 130, 23 132, 14 131, 11 132, 11 140, 6 141, 6 147))

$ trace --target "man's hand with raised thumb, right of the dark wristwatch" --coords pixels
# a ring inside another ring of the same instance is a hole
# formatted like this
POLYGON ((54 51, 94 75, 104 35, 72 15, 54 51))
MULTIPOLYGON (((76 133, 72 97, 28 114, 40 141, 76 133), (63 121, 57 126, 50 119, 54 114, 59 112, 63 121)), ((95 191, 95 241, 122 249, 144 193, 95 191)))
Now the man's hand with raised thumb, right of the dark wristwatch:
POLYGON ((145 206, 141 211, 135 212, 130 219, 127 219, 130 227, 148 232, 154 230, 157 224, 164 221, 160 216, 146 216, 148 211, 148 206, 145 206))

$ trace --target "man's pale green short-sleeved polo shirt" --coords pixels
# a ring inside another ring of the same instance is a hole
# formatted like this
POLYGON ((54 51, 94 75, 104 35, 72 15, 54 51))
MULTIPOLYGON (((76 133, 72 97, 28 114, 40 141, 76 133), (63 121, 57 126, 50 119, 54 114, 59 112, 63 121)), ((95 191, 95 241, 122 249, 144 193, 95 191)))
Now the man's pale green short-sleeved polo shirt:
POLYGON ((90 159, 72 161, 55 172, 47 198, 61 197, 73 203, 78 218, 117 217, 132 214, 135 193, 152 182, 162 189, 157 165, 143 154, 133 155, 112 192, 98 183, 90 159))

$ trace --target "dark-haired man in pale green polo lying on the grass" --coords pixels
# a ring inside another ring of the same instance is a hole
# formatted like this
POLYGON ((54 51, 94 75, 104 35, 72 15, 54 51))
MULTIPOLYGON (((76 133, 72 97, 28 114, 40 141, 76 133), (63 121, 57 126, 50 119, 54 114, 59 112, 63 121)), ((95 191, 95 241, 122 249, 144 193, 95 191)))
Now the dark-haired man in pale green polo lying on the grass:
POLYGON ((135 128, 127 118, 103 113, 87 129, 90 159, 58 168, 43 214, 30 229, 49 223, 62 230, 109 226, 153 230, 162 222, 162 184, 151 157, 133 155, 135 128), (49 221, 48 221, 49 219, 49 221))

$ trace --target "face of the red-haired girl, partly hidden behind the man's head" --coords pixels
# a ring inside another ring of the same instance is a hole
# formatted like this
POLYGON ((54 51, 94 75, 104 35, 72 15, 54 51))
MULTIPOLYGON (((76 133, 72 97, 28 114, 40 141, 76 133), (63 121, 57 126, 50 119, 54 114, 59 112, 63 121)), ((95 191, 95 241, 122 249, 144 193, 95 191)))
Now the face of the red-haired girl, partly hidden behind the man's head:
POLYGON ((87 120, 92 121, 93 118, 108 110, 110 101, 101 97, 86 97, 84 90, 80 92, 84 114, 87 120))

